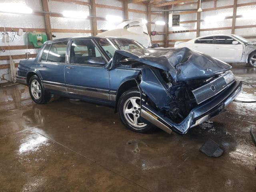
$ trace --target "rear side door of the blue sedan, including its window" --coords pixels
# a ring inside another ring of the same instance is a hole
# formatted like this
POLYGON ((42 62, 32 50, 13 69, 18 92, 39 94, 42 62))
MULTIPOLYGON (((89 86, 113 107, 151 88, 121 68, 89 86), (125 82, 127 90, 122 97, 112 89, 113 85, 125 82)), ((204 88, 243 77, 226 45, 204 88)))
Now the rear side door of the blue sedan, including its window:
POLYGON ((68 40, 51 42, 44 46, 36 66, 46 89, 66 92, 65 62, 68 40))

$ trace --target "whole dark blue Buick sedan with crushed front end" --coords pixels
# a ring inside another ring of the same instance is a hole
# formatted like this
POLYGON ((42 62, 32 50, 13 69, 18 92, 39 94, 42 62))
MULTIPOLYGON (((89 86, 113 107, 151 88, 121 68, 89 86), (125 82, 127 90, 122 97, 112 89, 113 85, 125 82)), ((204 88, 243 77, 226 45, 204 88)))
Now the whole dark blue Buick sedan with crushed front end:
POLYGON ((52 94, 114 106, 139 133, 161 128, 185 134, 218 114, 242 90, 231 66, 188 48, 146 48, 110 37, 45 42, 37 57, 18 65, 18 82, 32 100, 52 94))

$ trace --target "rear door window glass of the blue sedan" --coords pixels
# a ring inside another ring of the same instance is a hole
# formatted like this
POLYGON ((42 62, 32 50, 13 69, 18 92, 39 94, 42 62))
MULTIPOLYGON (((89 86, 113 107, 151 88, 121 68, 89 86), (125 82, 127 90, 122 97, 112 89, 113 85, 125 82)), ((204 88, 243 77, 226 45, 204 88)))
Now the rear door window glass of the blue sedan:
POLYGON ((65 63, 68 41, 52 43, 46 62, 65 63))

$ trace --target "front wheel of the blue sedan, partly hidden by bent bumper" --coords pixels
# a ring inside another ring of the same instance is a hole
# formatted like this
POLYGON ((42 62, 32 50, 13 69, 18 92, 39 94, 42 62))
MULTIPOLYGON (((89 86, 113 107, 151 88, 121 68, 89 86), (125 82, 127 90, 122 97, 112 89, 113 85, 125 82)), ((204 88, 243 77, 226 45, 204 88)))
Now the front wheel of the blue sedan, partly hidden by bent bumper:
POLYGON ((118 115, 122 123, 130 130, 147 133, 155 130, 152 124, 140 122, 140 92, 130 89, 122 94, 117 104, 118 115))

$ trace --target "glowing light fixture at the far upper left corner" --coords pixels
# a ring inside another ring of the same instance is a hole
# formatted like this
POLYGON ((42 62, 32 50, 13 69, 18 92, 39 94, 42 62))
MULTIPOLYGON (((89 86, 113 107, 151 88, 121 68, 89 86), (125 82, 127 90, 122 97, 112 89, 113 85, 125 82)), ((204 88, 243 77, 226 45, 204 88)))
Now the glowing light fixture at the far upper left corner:
POLYGON ((33 10, 22 3, 0 3, 0 12, 32 13, 33 10))

